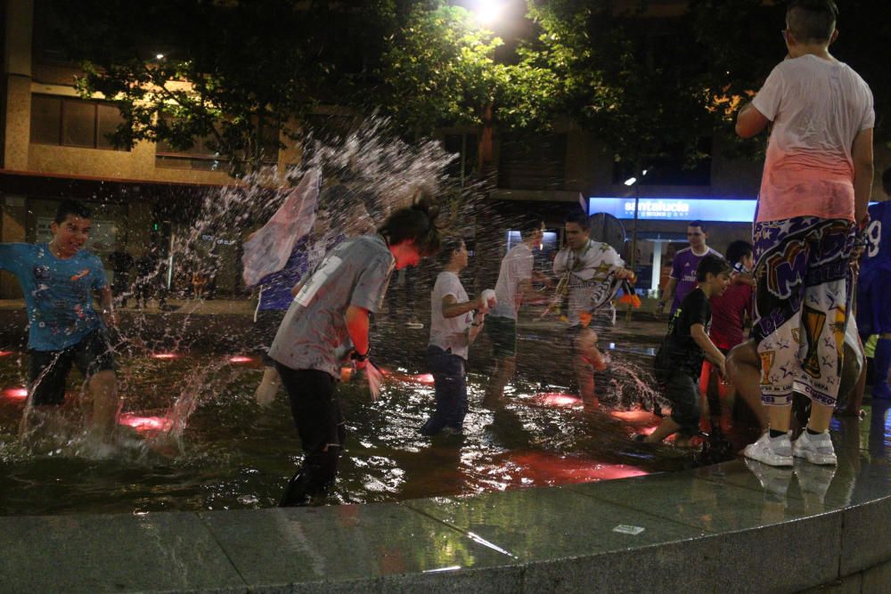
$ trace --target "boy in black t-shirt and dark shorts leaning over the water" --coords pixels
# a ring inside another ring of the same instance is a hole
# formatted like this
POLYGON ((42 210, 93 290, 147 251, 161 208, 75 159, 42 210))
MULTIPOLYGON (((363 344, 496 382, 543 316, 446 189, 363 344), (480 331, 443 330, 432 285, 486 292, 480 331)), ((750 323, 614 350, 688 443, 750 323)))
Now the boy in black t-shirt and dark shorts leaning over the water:
POLYGON ((723 294, 730 284, 731 267, 723 257, 708 254, 696 268, 696 289, 683 298, 668 325, 668 334, 656 354, 656 380, 672 403, 669 417, 650 435, 638 435, 646 443, 659 443, 680 433, 677 445, 686 445, 699 434, 699 371, 703 356, 723 378, 724 355, 708 338, 712 318, 711 297, 723 294))

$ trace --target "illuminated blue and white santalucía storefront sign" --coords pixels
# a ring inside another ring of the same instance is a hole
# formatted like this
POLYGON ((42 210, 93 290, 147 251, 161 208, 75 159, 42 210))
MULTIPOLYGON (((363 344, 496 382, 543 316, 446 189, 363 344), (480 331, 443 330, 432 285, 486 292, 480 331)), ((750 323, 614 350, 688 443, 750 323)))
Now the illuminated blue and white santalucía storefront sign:
MULTIPOLYGON (((642 198, 638 200, 638 218, 644 221, 723 221, 751 223, 755 220, 757 200, 722 200, 698 198, 642 198)), ((607 213, 619 219, 634 218, 634 198, 589 198, 588 214, 607 213)))

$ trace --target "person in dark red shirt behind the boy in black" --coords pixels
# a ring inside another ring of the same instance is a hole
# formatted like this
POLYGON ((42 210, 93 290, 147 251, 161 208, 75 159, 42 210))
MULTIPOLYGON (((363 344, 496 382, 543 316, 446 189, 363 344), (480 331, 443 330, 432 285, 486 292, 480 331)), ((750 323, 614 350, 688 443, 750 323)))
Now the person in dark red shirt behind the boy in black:
MULTIPOLYGON (((709 297, 712 308, 712 325, 708 338, 725 356, 734 346, 745 339, 746 322, 752 318, 755 289, 749 282, 755 266, 752 244, 736 240, 727 246, 727 263, 732 266, 732 282, 723 293, 709 297)), ((736 390, 732 384, 724 384, 715 366, 706 360, 702 363, 699 388, 707 396, 708 411, 712 419, 712 431, 720 433, 721 419, 729 425, 732 418, 736 390)))

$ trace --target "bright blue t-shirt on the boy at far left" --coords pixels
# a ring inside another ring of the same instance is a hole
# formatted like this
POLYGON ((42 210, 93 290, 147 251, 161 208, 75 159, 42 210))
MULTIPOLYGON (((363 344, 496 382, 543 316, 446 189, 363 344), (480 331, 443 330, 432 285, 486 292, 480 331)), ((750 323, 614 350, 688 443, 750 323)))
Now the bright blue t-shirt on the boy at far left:
POLYGON ((59 351, 102 324, 93 291, 108 286, 102 261, 85 249, 57 258, 46 243, 0 243, 0 270, 15 275, 28 308, 28 347, 59 351))

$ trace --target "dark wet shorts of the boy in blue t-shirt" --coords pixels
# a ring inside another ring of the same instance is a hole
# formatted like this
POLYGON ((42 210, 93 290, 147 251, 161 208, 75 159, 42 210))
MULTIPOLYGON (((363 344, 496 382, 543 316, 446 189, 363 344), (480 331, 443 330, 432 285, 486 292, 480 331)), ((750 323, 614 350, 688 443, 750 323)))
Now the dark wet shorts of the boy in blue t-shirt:
POLYGON ((61 351, 29 350, 28 360, 29 394, 36 406, 65 402, 65 382, 72 363, 84 378, 99 371, 115 370, 114 352, 104 328, 93 330, 77 345, 61 351))

